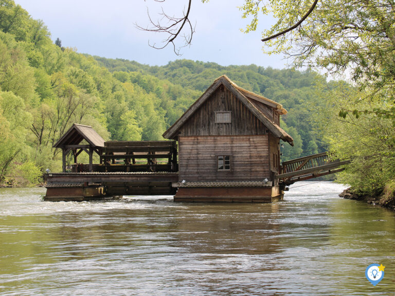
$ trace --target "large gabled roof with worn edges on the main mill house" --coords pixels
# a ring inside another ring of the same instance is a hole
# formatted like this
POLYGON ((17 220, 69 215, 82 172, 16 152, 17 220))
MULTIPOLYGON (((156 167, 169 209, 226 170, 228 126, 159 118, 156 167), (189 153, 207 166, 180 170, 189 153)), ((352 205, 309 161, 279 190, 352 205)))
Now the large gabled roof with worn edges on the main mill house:
POLYGON ((237 86, 226 75, 216 79, 213 84, 207 88, 204 94, 197 99, 172 126, 168 128, 168 130, 163 134, 163 137, 166 139, 174 138, 179 128, 183 126, 192 114, 214 93, 214 91, 217 90, 220 85, 224 85, 228 88, 236 98, 238 98, 250 110, 250 112, 252 112, 268 128, 268 130, 273 133, 274 136, 282 139, 283 141, 289 142, 292 146, 294 145, 292 137, 288 135, 278 124, 268 119, 254 101, 258 101, 275 108, 279 114, 286 114, 286 110, 282 105, 237 86))

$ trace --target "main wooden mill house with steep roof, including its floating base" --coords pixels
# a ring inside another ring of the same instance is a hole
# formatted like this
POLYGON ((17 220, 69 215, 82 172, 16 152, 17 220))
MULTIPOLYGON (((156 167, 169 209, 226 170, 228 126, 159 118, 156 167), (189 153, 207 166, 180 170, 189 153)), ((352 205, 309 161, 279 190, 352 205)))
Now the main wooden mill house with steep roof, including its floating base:
POLYGON ((163 135, 178 141, 175 201, 282 199, 275 175, 286 110, 221 76, 163 135))

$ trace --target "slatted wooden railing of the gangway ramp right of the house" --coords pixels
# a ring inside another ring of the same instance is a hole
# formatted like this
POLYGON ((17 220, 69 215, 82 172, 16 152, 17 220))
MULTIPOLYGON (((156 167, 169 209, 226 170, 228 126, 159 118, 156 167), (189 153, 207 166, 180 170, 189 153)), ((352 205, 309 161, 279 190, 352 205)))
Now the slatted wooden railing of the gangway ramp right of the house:
POLYGON ((280 174, 312 169, 328 164, 329 162, 329 156, 326 152, 300 157, 293 160, 284 161, 282 163, 280 174))

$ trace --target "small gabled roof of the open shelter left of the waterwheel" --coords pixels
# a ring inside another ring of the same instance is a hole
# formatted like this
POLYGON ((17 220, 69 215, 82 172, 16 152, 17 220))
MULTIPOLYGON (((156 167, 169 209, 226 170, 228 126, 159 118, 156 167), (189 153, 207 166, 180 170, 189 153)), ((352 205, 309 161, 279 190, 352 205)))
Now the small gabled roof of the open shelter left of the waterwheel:
POLYGON ((96 133, 92 126, 77 123, 74 123, 53 147, 62 148, 65 145, 78 145, 82 140, 86 140, 94 148, 104 147, 103 138, 96 133))

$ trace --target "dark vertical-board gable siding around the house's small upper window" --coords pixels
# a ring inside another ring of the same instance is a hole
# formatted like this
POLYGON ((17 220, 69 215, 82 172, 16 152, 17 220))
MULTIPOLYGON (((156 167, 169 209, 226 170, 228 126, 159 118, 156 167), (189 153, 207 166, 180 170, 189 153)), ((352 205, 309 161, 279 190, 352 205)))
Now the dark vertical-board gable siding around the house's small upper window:
POLYGON ((214 91, 179 130, 181 136, 265 134, 264 124, 223 85, 214 91), (219 111, 230 111, 231 123, 216 123, 215 113, 219 111))

